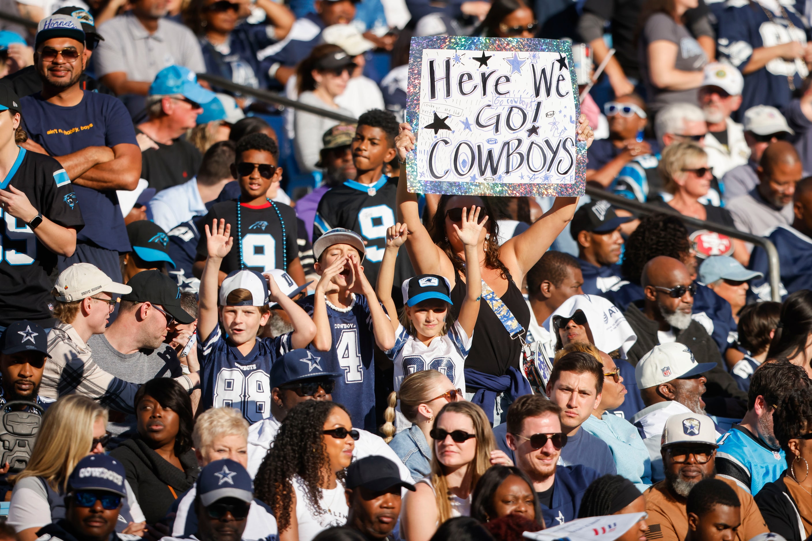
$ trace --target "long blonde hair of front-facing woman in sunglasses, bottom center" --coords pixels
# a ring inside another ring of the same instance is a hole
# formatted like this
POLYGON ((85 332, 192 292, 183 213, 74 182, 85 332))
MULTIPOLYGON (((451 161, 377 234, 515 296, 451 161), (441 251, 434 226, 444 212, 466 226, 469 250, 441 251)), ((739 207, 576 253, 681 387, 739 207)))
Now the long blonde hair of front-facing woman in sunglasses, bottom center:
MULTIPOLYGON (((439 419, 445 413, 464 414, 473 423, 473 433, 477 436, 477 450, 473 457, 473 462, 469 466, 471 471, 471 491, 477 486, 477 481, 482 474, 490 468, 490 452, 496 449, 494 431, 490 427, 488 418, 482 408, 468 401, 448 402, 437 418, 434 419, 432 429, 437 428, 439 419)), ((443 464, 438 461, 437 453, 434 453, 435 441, 431 444, 431 485, 434 487, 434 498, 437 500, 438 523, 442 524, 451 518, 451 500, 454 494, 448 489, 448 480, 443 472, 443 464)))

